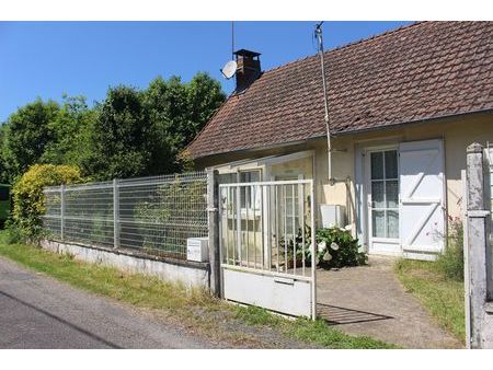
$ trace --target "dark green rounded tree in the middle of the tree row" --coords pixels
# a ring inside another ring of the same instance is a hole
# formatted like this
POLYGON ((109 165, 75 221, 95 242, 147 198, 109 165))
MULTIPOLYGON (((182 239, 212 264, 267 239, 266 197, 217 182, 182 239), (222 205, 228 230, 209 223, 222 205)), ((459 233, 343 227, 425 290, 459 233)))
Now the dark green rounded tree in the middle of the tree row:
POLYGON ((98 181, 147 175, 151 127, 141 92, 124 85, 111 88, 90 127, 83 173, 98 181))

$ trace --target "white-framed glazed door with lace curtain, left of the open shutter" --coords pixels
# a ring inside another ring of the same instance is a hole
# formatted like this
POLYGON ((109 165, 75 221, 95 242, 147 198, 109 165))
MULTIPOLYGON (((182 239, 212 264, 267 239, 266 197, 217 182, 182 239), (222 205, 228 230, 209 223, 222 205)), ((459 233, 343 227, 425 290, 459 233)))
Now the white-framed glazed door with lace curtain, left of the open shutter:
POLYGON ((366 159, 369 253, 398 255, 401 253, 398 148, 369 150, 366 159))

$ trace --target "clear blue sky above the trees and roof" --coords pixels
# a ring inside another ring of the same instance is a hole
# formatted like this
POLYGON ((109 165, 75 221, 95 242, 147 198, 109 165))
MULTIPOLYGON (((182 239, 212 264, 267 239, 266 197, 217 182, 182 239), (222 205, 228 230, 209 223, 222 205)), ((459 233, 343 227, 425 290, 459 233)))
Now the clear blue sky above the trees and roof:
MULTIPOLYGON (((271 69, 317 53, 316 22, 234 22, 234 46, 262 53, 271 69)), ((410 22, 325 22, 325 48, 410 22)), ((108 86, 146 88, 158 76, 188 81, 231 58, 230 22, 0 22, 0 123, 19 106, 61 95, 84 95, 92 105, 108 86)))

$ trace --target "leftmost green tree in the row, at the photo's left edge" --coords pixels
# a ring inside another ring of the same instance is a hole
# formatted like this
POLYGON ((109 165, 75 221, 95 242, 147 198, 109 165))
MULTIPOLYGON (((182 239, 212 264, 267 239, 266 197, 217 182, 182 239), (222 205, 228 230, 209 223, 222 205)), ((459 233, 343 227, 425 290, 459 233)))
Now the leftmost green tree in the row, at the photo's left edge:
POLYGON ((20 107, 9 117, 2 148, 7 180, 13 182, 30 165, 39 161, 46 146, 54 138, 50 124, 59 109, 56 102, 45 103, 38 99, 20 107))

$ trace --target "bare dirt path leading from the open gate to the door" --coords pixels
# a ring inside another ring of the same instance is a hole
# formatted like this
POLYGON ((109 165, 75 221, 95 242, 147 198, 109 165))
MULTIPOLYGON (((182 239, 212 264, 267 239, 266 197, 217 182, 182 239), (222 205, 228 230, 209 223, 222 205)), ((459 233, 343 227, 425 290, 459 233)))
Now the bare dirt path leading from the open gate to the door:
POLYGON ((370 257, 368 266, 318 270, 319 314, 347 334, 405 348, 461 348, 404 291, 392 267, 392 258, 370 257))

